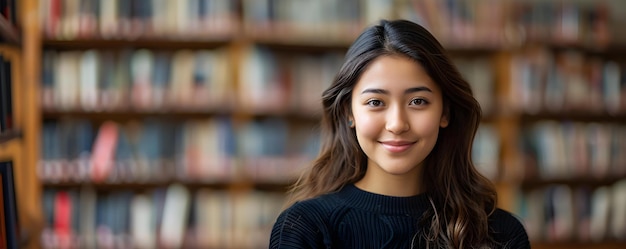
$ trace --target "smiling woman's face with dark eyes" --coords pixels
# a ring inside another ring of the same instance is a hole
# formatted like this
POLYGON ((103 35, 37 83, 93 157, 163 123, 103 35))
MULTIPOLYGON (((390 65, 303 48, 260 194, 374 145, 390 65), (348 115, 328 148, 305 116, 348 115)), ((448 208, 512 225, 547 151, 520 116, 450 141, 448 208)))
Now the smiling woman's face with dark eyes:
POLYGON ((437 141, 443 115, 439 86, 406 57, 371 62, 352 91, 352 127, 368 157, 369 174, 419 177, 437 141))

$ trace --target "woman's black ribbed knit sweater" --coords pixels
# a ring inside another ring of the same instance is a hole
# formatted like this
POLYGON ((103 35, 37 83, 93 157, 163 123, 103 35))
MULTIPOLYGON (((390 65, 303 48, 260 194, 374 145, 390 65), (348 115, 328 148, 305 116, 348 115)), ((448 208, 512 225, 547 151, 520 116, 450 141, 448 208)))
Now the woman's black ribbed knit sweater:
MULTIPOLYGON (((425 248, 418 222, 428 209, 426 194, 393 197, 352 184, 340 191, 300 201, 276 220, 270 248, 425 248)), ((523 225, 497 209, 489 217, 498 248, 530 248, 523 225)))

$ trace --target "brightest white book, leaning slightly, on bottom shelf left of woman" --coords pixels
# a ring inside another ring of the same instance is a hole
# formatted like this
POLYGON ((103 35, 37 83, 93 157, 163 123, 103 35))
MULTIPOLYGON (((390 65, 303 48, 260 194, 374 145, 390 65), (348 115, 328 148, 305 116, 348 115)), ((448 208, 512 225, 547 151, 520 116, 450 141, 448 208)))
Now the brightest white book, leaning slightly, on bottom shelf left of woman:
POLYGON ((175 183, 167 188, 163 220, 159 231, 161 243, 165 248, 182 247, 189 205, 189 191, 184 186, 175 183))

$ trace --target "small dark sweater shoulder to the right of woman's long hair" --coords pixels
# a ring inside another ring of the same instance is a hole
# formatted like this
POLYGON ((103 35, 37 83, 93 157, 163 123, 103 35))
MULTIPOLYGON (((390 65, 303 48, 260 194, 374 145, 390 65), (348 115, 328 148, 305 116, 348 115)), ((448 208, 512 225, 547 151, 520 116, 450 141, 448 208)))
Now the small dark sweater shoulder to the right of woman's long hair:
POLYGON ((497 208, 489 216, 489 227, 493 238, 506 248, 530 248, 528 234, 522 220, 514 214, 497 208))

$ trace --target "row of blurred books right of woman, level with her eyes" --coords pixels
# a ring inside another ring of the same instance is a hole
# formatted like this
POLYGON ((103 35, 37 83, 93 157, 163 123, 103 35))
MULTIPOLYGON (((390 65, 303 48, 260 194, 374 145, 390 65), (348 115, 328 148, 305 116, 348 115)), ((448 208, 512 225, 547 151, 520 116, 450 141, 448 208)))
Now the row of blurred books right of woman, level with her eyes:
POLYGON ((511 63, 510 103, 526 113, 626 111, 626 67, 581 50, 532 48, 511 63))

